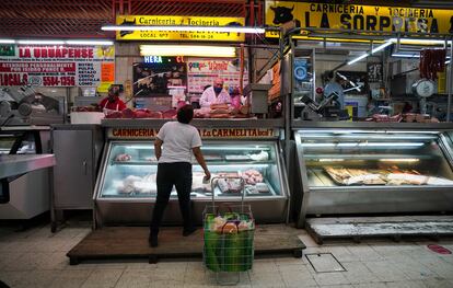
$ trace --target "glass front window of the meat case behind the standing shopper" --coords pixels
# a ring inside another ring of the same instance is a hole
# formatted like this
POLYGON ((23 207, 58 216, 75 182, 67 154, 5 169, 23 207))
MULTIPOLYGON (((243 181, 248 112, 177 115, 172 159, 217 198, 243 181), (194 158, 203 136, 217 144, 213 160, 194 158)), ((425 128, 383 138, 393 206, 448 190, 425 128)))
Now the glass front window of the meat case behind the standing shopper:
MULTIPOLYGON (((247 196, 281 195, 280 173, 275 143, 212 143, 205 142, 202 152, 208 168, 216 176, 243 177, 247 196)), ((101 197, 154 198, 158 170, 154 147, 150 142, 111 146, 101 197)), ((212 197, 210 183, 204 183, 202 169, 193 162, 193 197, 212 197)), ((240 197, 237 181, 222 180, 214 186, 221 197, 240 197)), ((176 197, 176 191, 171 197, 176 197)))

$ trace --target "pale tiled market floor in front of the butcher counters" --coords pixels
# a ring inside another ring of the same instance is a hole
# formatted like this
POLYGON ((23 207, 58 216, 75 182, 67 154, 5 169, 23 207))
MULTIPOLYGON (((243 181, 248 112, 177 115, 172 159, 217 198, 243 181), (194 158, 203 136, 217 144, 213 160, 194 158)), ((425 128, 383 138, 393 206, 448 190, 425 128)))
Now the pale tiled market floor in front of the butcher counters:
MULTIPOLYGON (((0 227, 0 279, 10 287, 214 287, 200 261, 91 262, 70 266, 66 253, 90 232, 71 224, 50 233, 49 226, 25 232, 0 227)), ((301 230, 302 258, 255 260, 239 287, 453 287, 453 255, 431 252, 433 242, 368 241, 318 246, 301 230), (332 253, 346 272, 316 273, 306 254, 332 253)), ((125 239, 127 241, 127 239, 125 239)), ((437 242, 453 251, 453 240, 437 242)))

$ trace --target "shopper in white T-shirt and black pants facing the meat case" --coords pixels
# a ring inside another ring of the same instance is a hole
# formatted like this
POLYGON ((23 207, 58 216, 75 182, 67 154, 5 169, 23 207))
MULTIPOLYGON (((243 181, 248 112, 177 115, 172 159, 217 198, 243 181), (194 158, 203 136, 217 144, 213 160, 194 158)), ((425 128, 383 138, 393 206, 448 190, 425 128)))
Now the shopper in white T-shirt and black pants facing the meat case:
POLYGON ((190 192, 191 192, 191 155, 205 171, 205 180, 211 174, 201 153, 201 138, 194 126, 189 125, 194 118, 194 107, 185 105, 177 112, 177 122, 167 122, 159 130, 154 141, 154 153, 158 158, 158 197, 150 224, 149 244, 158 245, 159 227, 165 207, 170 199, 173 186, 176 187, 179 209, 184 220, 183 235, 191 234, 196 229, 191 221, 190 192))

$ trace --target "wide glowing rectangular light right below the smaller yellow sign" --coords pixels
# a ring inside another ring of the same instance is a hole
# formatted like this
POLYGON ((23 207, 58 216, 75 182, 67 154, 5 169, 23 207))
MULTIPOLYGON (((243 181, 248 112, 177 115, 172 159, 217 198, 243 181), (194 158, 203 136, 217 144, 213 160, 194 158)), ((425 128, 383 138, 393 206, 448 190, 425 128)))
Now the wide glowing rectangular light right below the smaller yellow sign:
POLYGON ((189 45, 140 45, 141 56, 235 57, 234 47, 189 45))

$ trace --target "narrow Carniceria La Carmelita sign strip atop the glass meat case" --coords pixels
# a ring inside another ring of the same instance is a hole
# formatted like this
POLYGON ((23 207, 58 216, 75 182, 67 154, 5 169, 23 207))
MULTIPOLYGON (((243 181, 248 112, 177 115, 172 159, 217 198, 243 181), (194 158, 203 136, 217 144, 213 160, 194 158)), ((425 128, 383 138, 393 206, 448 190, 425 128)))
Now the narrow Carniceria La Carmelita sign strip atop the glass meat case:
MULTIPOLYGON (((158 133, 159 129, 153 128, 112 128, 108 138, 152 139, 158 133)), ((279 136, 279 130, 272 128, 201 128, 198 133, 201 138, 216 139, 267 139, 279 136)))

